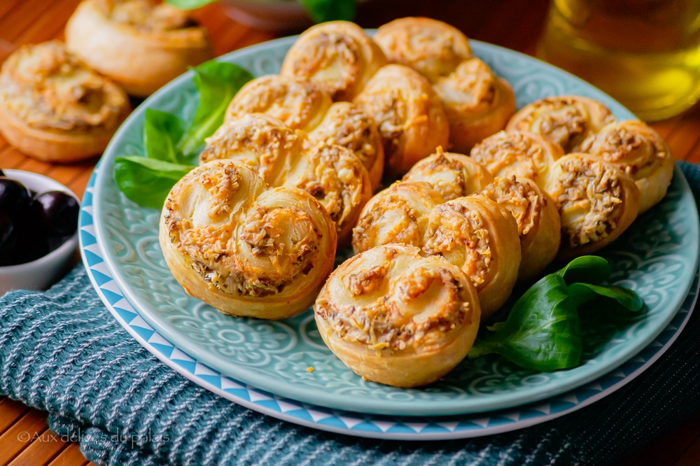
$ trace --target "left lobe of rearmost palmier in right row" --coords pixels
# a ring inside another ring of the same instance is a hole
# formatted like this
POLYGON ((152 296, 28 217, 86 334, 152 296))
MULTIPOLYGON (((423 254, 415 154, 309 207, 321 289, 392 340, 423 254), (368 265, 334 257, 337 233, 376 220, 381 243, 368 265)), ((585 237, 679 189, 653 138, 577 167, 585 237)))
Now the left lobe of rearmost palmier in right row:
POLYGON ((545 97, 521 108, 505 129, 542 134, 570 153, 591 134, 615 120, 608 107, 575 95, 545 97))

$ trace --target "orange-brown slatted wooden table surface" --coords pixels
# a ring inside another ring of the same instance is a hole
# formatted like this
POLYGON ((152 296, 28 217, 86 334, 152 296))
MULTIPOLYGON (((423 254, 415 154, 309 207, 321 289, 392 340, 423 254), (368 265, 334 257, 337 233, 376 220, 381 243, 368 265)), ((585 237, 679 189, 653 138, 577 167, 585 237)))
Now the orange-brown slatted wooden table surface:
MULTIPOLYGON (((63 38, 63 29, 80 0, 0 0, 0 60, 25 43, 63 38)), ((378 27, 400 16, 423 15, 444 20, 479 39, 533 55, 545 20, 547 0, 373 0, 363 3, 357 22, 378 27)), ((216 55, 271 38, 297 33, 251 29, 230 20, 214 3, 195 12, 209 29, 216 55)), ((653 127, 671 145, 679 160, 700 162, 700 106, 653 127)), ((36 171, 55 178, 82 195, 97 159, 78 164, 47 164, 22 155, 0 136, 0 168, 36 171)), ((86 465, 77 444, 56 438, 46 414, 0 397, 1 465, 86 465)), ((690 418, 655 444, 618 466, 700 464, 700 416, 690 418)))

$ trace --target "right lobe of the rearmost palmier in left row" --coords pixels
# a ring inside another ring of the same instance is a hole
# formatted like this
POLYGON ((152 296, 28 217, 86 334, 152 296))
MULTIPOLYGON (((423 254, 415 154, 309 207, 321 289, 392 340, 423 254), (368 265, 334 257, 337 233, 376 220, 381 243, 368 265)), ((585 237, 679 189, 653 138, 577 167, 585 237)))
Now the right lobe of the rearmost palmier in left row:
POLYGON ((476 57, 439 78, 433 88, 442 100, 455 152, 468 153, 476 143, 503 129, 515 113, 510 83, 476 57))

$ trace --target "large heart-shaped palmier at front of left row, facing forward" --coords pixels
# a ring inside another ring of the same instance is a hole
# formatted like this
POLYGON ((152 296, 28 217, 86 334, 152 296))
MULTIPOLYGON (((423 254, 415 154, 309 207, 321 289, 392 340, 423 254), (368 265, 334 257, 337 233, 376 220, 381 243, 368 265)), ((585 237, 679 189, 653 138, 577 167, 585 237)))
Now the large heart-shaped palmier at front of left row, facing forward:
POLYGON ((336 236, 307 192, 269 188, 234 160, 195 167, 170 191, 159 242, 189 295, 233 316, 307 309, 333 268, 336 236))

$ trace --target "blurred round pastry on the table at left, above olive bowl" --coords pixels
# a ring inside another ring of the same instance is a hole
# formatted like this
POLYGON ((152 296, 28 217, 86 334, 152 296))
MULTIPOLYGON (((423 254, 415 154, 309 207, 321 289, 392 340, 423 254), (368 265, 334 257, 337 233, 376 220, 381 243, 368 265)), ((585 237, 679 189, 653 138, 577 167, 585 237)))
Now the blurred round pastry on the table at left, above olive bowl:
POLYGON ((76 162, 102 153, 131 106, 59 41, 25 45, 0 70, 0 132, 23 153, 76 162))

